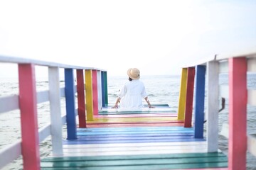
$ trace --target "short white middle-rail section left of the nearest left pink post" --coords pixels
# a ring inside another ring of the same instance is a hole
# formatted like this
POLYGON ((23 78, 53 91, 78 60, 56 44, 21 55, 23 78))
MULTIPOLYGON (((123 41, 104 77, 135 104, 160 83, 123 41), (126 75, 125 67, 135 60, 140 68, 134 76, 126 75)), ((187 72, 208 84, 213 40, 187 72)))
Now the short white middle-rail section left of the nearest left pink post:
POLYGON ((18 95, 0 97, 0 113, 18 109, 18 95))

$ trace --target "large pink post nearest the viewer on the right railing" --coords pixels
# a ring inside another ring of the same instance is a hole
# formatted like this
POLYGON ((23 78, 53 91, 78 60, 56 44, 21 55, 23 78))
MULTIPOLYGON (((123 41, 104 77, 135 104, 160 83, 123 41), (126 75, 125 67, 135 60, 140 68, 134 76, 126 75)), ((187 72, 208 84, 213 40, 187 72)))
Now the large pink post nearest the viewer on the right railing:
POLYGON ((247 60, 230 58, 229 62, 229 143, 228 169, 246 169, 247 149, 247 60))

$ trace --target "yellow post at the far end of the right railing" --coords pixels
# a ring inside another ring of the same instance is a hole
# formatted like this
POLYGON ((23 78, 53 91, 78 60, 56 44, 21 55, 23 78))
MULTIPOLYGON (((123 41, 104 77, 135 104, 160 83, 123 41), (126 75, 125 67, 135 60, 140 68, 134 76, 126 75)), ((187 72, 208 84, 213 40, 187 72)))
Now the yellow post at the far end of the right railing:
POLYGON ((186 107, 186 84, 188 68, 183 68, 181 72, 181 89, 178 100, 178 120, 184 120, 186 107))

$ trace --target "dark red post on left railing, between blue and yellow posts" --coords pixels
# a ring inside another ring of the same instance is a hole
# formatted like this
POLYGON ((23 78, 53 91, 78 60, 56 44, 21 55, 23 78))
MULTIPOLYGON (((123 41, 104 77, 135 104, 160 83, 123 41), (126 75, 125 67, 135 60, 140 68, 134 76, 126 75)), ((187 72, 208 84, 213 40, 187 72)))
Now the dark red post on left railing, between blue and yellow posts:
POLYGON ((78 84, 78 119, 79 128, 86 128, 85 115, 85 81, 82 69, 77 69, 77 84, 78 84))

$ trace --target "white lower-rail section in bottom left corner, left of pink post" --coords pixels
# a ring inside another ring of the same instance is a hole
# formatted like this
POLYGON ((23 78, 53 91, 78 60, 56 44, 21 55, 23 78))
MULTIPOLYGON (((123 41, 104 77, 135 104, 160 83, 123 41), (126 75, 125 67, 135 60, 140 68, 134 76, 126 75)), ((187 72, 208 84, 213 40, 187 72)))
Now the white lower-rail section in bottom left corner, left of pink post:
POLYGON ((0 169, 21 156, 21 140, 13 142, 0 150, 0 169))

